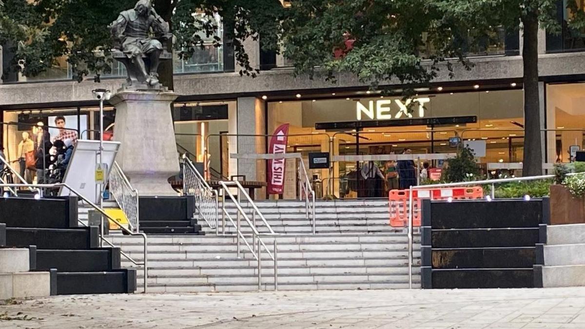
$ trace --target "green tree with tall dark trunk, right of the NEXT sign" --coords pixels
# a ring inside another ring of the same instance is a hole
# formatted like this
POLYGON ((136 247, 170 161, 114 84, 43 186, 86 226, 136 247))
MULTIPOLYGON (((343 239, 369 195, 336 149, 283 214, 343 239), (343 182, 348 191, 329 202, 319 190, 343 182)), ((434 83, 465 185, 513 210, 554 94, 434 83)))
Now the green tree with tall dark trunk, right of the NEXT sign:
MULTIPOLYGON (((298 0, 284 25, 285 56, 295 73, 355 74, 362 83, 414 85, 432 81, 442 66, 470 68, 470 47, 480 47, 494 26, 522 29, 524 47, 524 173, 542 174, 538 91, 538 29, 558 32, 556 0, 298 0), (466 40, 467 42, 463 42, 466 40), (433 49, 426 54, 424 47, 433 49), (332 56, 337 50, 342 56, 332 56), (316 70, 316 67, 319 70, 316 70)), ((569 0, 573 28, 584 28, 583 11, 569 0)))

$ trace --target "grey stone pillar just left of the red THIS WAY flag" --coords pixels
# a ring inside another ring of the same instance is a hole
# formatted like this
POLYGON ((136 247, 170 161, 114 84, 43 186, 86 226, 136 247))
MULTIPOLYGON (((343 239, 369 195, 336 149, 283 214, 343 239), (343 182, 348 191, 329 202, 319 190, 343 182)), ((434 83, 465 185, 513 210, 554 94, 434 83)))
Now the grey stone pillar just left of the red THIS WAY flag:
MULTIPOLYGON (((265 135, 264 101, 256 97, 238 98, 238 135, 265 135)), ((263 136, 238 136, 238 153, 266 153, 263 136)), ((266 181, 266 160, 239 159, 238 174, 246 180, 266 181)), ((257 200, 263 199, 266 189, 256 190, 257 200)))

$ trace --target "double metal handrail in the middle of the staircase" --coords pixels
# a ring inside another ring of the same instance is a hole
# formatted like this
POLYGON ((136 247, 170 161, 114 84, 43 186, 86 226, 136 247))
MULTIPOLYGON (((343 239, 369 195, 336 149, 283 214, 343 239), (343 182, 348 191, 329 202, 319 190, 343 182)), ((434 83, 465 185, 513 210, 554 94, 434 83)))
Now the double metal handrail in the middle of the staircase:
POLYGON ((270 256, 270 258, 274 261, 274 290, 278 290, 278 245, 277 245, 276 237, 278 237, 279 234, 274 233, 273 229, 270 227, 270 225, 266 221, 266 218, 264 218, 262 213, 260 213, 260 210, 256 207, 256 204, 254 204, 254 201, 246 193, 246 190, 243 189, 242 184, 240 184, 239 181, 220 181, 219 184, 221 185, 222 191, 223 191, 223 199, 222 199, 222 232, 223 232, 223 235, 225 235, 225 217, 227 216, 229 221, 232 222, 233 227, 236 228, 236 234, 237 234, 236 243, 238 244, 238 247, 237 247, 238 248, 237 249, 238 258, 240 258, 240 239, 242 239, 244 241, 244 243, 246 244, 246 246, 248 247, 248 249, 250 249, 250 252, 252 252, 252 256, 254 256, 254 258, 258 261, 258 290, 262 289, 262 249, 261 249, 261 247, 263 246, 264 249, 266 250, 266 252, 268 253, 268 255, 270 256), (229 190, 228 185, 238 187, 239 193, 238 193, 237 200, 236 200, 236 197, 233 196, 232 192, 229 190), (236 208, 237 208, 236 221, 237 221, 237 223, 233 221, 232 216, 229 214, 228 210, 226 210, 226 208, 225 208, 225 194, 226 193, 228 194, 229 198, 233 201, 233 203, 236 205, 236 208), (250 218, 248 217, 246 212, 242 209, 242 205, 240 204, 241 203, 240 193, 242 193, 246 196, 248 202, 254 208, 252 221, 250 221, 250 218), (263 220, 264 224, 266 224, 270 233, 258 232, 258 229, 256 228, 256 213, 260 215, 261 220, 263 220), (244 220, 246 220, 246 222, 248 223, 248 225, 250 225, 250 228, 252 229, 252 246, 250 246, 250 244, 247 242, 246 237, 241 230, 242 226, 241 226, 241 221, 240 221, 240 214, 244 217, 244 220), (274 241, 273 241, 274 253, 270 252, 270 250, 268 249, 266 244, 264 244, 264 241, 262 241, 261 237, 273 237, 274 238, 274 241), (254 246, 257 246, 256 252, 254 252, 254 246))

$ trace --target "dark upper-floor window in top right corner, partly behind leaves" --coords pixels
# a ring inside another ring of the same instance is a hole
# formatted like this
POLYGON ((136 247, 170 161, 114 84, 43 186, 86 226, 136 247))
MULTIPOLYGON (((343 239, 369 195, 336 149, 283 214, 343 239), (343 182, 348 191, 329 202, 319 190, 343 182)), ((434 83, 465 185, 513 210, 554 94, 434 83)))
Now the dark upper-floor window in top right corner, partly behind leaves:
POLYGON ((546 51, 549 53, 585 50, 585 29, 575 29, 569 23, 576 15, 575 11, 583 12, 585 10, 585 1, 577 0, 576 8, 570 7, 569 0, 557 1, 556 20, 561 30, 560 34, 546 34, 546 51))

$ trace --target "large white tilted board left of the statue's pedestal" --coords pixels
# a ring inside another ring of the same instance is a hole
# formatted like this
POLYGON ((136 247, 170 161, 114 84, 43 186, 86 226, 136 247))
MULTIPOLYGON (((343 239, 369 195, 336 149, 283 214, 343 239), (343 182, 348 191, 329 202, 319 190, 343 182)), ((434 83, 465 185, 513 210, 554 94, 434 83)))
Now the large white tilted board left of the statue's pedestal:
MULTIPOLYGON (((109 169, 113 165, 116 153, 120 149, 120 142, 104 142, 104 152, 102 153, 103 173, 98 173, 98 152, 99 140, 78 139, 71 155, 69 166, 65 172, 63 183, 71 186, 71 189, 79 192, 82 196, 88 198, 93 203, 99 203, 98 181, 103 178, 108 181, 109 169), (101 177, 103 175, 103 177, 101 177)), ((59 196, 68 196, 71 191, 66 187, 61 187, 59 196)))

